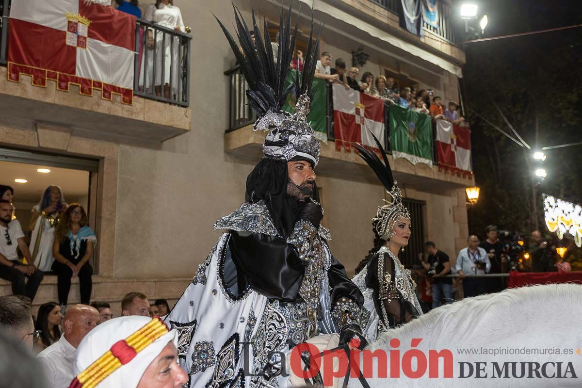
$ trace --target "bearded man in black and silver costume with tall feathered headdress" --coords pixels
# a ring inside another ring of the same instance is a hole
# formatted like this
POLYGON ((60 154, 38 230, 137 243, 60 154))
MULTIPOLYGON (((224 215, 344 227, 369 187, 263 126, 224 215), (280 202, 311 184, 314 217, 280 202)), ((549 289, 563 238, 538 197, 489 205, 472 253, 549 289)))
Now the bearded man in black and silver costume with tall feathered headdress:
POLYGON ((254 15, 251 37, 235 8, 240 46, 219 22, 249 84, 247 99, 259 117, 253 129, 268 133, 264 156, 247 179, 246 202, 215 223, 225 232, 165 318, 179 330, 190 387, 276 386, 280 359, 273 352, 320 333, 339 333, 340 344, 354 337, 365 344, 363 296, 320 225, 313 171, 320 144, 306 121, 319 35, 315 42, 310 37, 301 77, 284 87, 297 31, 296 25, 291 34, 290 11, 286 23, 281 15, 276 63, 267 26, 263 39, 254 15), (280 108, 293 87, 298 98, 290 115, 280 108))

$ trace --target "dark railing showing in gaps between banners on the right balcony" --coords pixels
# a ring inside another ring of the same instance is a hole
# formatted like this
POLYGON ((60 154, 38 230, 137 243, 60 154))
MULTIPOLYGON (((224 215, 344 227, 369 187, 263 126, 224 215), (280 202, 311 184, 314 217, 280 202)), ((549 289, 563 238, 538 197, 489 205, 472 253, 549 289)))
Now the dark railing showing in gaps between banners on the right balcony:
MULTIPOLYGON (((244 80, 243 73, 240 66, 236 65, 232 69, 226 70, 224 73, 228 77, 229 83, 229 120, 228 128, 225 133, 232 132, 244 126, 252 125, 257 120, 256 113, 250 108, 246 102, 247 83, 244 80)), ((333 134, 333 88, 332 84, 327 84, 327 138, 328 141, 335 141, 333 134)), ((392 137, 390 131, 390 109, 389 105, 384 105, 384 131, 385 144, 384 148, 388 154, 392 154, 392 137)), ((437 163, 437 127, 435 122, 431 124, 431 147, 432 147, 432 162, 437 163)))

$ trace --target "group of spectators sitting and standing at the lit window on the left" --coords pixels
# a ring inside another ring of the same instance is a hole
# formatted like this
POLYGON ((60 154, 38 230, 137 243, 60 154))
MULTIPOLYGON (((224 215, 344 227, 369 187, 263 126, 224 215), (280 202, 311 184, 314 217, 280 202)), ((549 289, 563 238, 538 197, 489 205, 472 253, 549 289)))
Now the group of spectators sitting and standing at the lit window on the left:
POLYGON ((91 296, 90 260, 97 244, 80 204, 68 204, 61 187, 51 185, 32 208, 30 241, 15 215, 14 189, 0 185, 0 278, 12 283, 12 293, 34 300, 45 273, 57 275, 58 301, 63 314, 71 279, 79 277, 81 302, 91 296))

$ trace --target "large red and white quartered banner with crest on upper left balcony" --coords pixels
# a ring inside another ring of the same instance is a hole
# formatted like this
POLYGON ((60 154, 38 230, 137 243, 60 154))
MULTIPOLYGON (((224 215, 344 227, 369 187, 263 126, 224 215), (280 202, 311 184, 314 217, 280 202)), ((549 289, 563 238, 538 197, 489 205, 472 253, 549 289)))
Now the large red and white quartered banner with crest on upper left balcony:
POLYGON ((133 103, 136 17, 84 0, 12 0, 9 23, 8 79, 32 77, 34 86, 82 95, 101 90, 111 101, 133 103))

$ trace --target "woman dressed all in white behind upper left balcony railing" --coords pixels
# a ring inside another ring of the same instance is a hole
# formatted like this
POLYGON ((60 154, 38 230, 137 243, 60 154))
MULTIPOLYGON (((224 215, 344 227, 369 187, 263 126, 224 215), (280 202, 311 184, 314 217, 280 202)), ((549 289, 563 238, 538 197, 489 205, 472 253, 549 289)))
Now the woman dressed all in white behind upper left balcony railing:
MULTIPOLYGON (((156 23, 171 30, 179 32, 186 31, 186 27, 184 26, 184 22, 182 20, 182 12, 180 12, 180 8, 173 5, 173 0, 156 0, 155 4, 150 4, 147 10, 145 10, 144 19, 147 22, 156 23)), ((171 94, 174 94, 174 92, 178 89, 178 82, 180 79, 180 64, 178 63, 180 40, 177 36, 150 28, 147 31, 147 48, 149 50, 146 54, 146 74, 144 78, 144 62, 142 62, 142 76, 140 77, 140 79, 144 79, 145 90, 151 91, 153 79, 155 95, 162 95, 163 85, 164 97, 171 98, 171 94), (164 67, 163 73, 162 66, 164 67), (172 78, 172 91, 170 90, 170 77, 172 78)))

